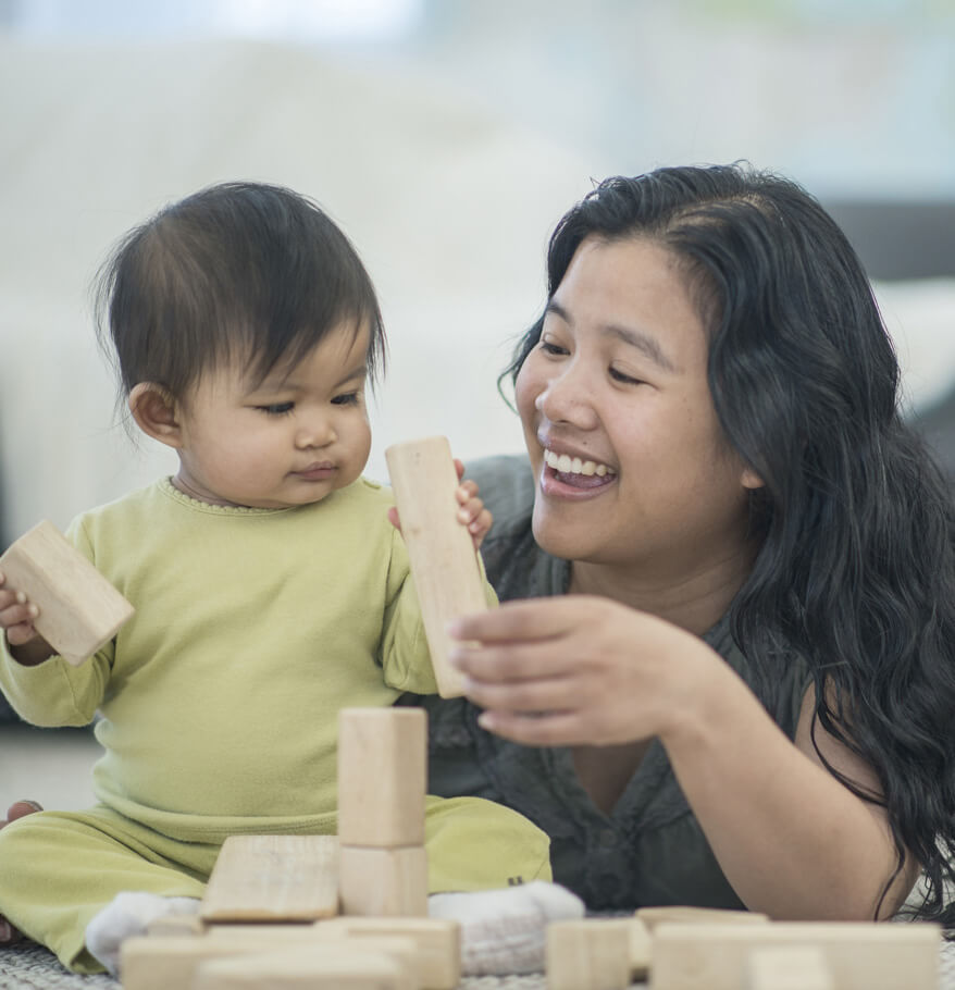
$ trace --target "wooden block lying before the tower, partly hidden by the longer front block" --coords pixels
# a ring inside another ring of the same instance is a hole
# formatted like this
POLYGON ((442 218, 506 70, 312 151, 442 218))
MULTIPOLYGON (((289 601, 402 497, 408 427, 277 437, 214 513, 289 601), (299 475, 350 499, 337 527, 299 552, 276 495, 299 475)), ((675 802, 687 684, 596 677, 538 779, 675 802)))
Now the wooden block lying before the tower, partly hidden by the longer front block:
POLYGON ((455 990, 461 981, 461 926, 446 918, 359 918, 339 915, 315 921, 323 938, 398 935, 418 946, 418 976, 424 990, 455 990))

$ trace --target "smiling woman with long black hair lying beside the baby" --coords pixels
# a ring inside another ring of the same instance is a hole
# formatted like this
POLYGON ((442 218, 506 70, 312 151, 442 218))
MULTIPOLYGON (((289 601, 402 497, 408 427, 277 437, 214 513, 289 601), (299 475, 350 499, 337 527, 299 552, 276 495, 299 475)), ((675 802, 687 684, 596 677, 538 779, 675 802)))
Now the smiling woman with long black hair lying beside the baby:
POLYGON ((548 271, 530 465, 469 472, 506 604, 457 624, 431 790, 531 817, 593 909, 884 918, 922 868, 943 917, 952 505, 845 237, 784 180, 661 169, 548 271))

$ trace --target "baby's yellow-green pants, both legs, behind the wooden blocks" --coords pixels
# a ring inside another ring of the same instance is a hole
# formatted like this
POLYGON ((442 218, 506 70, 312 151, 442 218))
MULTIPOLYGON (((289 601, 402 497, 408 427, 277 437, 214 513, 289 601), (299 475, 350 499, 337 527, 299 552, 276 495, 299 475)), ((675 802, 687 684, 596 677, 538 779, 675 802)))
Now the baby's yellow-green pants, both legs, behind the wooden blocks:
MULTIPOLYGON (((526 818, 479 797, 429 797, 429 890, 487 890, 550 879, 549 840, 526 818)), ((160 834, 99 806, 40 812, 0 830, 0 915, 76 973, 100 973, 86 926, 116 894, 201 898, 219 842, 160 834)))

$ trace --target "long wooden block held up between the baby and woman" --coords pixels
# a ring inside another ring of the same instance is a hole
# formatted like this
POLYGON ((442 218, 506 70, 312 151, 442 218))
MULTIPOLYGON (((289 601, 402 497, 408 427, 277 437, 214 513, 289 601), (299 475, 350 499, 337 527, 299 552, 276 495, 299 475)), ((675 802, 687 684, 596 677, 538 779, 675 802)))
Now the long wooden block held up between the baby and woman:
POLYGON ((461 675, 450 666, 454 642, 447 623, 484 611, 487 601, 478 555, 467 528, 458 522, 458 475, 447 438, 433 436, 385 450, 401 533, 418 587, 431 661, 443 697, 463 694, 461 675))

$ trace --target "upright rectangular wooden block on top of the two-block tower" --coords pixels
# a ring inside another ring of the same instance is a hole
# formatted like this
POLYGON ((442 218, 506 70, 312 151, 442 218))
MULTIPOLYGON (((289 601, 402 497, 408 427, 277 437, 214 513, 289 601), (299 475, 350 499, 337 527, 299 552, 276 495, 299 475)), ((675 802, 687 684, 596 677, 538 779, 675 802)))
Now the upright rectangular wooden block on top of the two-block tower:
POLYGON ((338 841, 424 844, 427 716, 421 708, 338 714, 338 841))

